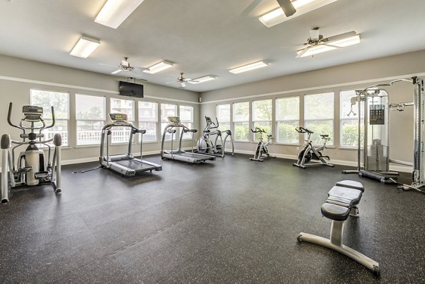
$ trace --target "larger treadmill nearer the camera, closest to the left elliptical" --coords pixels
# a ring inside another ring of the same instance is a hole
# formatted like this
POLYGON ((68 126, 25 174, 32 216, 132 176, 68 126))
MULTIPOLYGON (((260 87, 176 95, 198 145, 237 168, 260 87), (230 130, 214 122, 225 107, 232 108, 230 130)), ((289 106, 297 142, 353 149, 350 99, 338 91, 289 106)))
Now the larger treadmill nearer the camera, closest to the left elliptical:
POLYGON ((143 134, 146 133, 146 130, 137 129, 135 126, 130 124, 127 121, 127 114, 109 114, 111 123, 106 124, 102 128, 101 136, 101 155, 99 156, 99 162, 102 167, 107 169, 114 170, 119 172, 122 175, 127 177, 135 176, 137 172, 145 172, 156 170, 162 170, 162 165, 155 164, 154 162, 149 162, 147 160, 142 160, 142 146, 143 146, 143 134), (128 141, 128 153, 119 154, 119 155, 109 155, 109 141, 114 127, 127 127, 130 128, 130 140, 128 141), (140 159, 135 158, 132 155, 132 138, 135 134, 141 134, 142 139, 140 141, 140 159), (106 140, 106 155, 105 151, 105 140, 106 140))

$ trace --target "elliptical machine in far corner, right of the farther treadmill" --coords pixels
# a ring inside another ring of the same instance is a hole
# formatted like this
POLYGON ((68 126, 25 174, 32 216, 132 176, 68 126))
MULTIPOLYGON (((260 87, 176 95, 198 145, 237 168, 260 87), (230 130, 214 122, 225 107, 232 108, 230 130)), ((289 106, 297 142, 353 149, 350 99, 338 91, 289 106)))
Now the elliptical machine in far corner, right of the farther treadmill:
POLYGON ((216 155, 222 158, 225 158, 225 154, 234 155, 232 131, 218 130, 217 128, 218 126, 220 126, 220 124, 218 123, 217 117, 215 118, 217 124, 215 124, 215 122, 212 122, 212 119, 207 116, 205 116, 205 121, 207 123, 207 126, 205 126, 205 129, 203 130, 203 135, 199 137, 198 143, 196 145, 198 153, 216 155), (226 134, 224 139, 222 138, 223 133, 226 134), (212 140, 210 136, 215 137, 212 140), (232 146, 232 151, 226 151, 225 149, 227 138, 229 138, 230 145, 232 146))

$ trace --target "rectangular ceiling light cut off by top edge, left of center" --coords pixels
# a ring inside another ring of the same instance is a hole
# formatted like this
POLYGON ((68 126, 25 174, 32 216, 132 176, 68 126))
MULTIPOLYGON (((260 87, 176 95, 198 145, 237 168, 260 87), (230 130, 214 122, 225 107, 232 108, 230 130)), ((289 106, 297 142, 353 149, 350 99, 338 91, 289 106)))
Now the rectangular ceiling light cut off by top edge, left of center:
POLYGON ((110 28, 118 28, 144 0, 108 0, 94 21, 110 28))

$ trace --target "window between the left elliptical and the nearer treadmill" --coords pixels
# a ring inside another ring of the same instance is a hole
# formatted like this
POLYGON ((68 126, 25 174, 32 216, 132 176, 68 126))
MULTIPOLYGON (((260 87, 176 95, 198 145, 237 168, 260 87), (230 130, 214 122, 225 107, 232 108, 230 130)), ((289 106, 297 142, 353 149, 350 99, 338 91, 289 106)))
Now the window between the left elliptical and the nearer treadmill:
POLYGON ((75 119, 77 119, 77 145, 101 143, 105 125, 105 97, 75 95, 75 119))

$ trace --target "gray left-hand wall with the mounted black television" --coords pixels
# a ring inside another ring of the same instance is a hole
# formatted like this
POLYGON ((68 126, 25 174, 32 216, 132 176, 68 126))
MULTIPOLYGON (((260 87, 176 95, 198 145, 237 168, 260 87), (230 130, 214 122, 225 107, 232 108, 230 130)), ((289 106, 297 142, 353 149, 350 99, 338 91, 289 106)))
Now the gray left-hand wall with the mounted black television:
MULTIPOLYGON (((0 55, 0 62, 0 134, 10 134, 12 139, 19 139, 21 132, 18 129, 13 129, 6 122, 8 103, 13 102, 13 122, 19 122, 22 118, 21 107, 30 103, 31 88, 68 92, 70 100, 69 146, 63 148, 62 160, 64 163, 96 160, 99 151, 98 146, 76 147, 75 131, 72 131, 72 129, 76 129, 74 95, 79 93, 105 96, 107 101, 110 97, 126 98, 118 95, 118 81, 123 80, 123 78, 2 55, 0 55)), ((194 108, 194 127, 200 127, 198 124, 200 115, 198 93, 154 85, 145 81, 138 81, 137 83, 144 85, 145 98, 136 100, 192 105, 194 108)), ((108 108, 106 110, 108 112, 108 108)), ((183 146, 190 147, 191 143, 186 142, 183 146)), ((143 144, 144 153, 159 153, 160 148, 159 142, 143 144)), ((126 150, 127 146, 123 145, 111 147, 112 154, 126 153, 126 150)), ((133 150, 135 153, 140 152, 139 145, 135 144, 133 150)))

